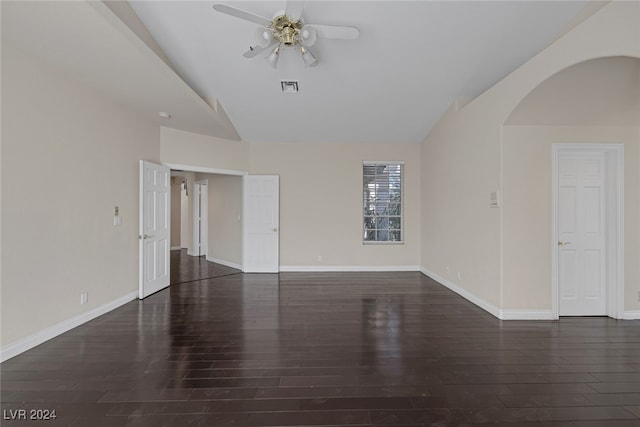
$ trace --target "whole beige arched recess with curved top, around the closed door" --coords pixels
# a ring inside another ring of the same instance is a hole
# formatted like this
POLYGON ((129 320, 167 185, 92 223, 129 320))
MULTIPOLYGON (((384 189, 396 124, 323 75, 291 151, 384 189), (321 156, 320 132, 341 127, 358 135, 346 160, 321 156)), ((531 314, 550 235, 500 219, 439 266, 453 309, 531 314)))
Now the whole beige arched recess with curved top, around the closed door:
POLYGON ((540 83, 502 127, 503 307, 553 313, 552 146, 619 144, 624 156, 624 307, 640 313, 640 58, 572 65, 540 83))

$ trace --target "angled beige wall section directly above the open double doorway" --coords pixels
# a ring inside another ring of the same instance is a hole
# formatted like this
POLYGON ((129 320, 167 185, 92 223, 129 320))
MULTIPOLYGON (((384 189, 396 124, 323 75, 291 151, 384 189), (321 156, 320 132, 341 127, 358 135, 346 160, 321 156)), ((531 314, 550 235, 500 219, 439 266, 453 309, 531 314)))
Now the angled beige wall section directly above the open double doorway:
POLYGON ((196 168, 247 171, 249 143, 161 127, 160 159, 196 168))

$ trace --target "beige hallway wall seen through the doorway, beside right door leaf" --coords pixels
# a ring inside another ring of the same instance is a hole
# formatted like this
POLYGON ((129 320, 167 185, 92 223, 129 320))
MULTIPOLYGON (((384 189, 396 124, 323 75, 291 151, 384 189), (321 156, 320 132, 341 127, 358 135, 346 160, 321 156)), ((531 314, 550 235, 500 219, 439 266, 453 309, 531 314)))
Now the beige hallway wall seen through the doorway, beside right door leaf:
POLYGON ((242 266, 242 177, 207 174, 209 236, 207 259, 242 266))

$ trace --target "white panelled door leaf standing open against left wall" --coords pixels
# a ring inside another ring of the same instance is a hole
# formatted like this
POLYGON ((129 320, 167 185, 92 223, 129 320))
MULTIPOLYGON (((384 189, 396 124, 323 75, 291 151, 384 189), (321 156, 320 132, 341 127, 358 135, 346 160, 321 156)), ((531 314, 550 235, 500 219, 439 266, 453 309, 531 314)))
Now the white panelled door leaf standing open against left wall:
POLYGON ((140 160, 140 299, 169 286, 170 197, 170 169, 140 160))

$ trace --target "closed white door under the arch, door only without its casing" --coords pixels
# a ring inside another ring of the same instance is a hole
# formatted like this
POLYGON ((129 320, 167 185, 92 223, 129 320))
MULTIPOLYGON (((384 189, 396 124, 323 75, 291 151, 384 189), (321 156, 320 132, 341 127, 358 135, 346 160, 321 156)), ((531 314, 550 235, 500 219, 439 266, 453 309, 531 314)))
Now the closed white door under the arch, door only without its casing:
POLYGON ((558 158, 558 314, 606 315, 605 157, 558 158))

